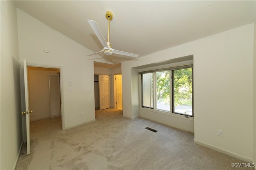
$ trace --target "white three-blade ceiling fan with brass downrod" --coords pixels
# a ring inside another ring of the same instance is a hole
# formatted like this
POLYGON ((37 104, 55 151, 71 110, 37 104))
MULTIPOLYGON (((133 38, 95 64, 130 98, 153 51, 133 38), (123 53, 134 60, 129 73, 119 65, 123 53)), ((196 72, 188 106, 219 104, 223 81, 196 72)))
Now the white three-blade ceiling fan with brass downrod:
POLYGON ((104 55, 119 54, 119 55, 125 55, 125 56, 129 56, 129 57, 138 57, 139 56, 138 54, 128 53, 128 52, 118 51, 118 50, 112 49, 111 43, 109 42, 109 25, 110 25, 110 21, 113 19, 112 12, 110 12, 110 11, 106 12, 106 19, 108 20, 108 42, 106 42, 106 40, 104 39, 102 33, 100 32, 100 29, 99 29, 97 23, 93 20, 87 20, 90 23, 93 31, 97 35, 98 39, 100 40, 100 43, 103 45, 103 49, 101 51, 89 54, 88 56, 95 55, 95 54, 103 52, 104 55))

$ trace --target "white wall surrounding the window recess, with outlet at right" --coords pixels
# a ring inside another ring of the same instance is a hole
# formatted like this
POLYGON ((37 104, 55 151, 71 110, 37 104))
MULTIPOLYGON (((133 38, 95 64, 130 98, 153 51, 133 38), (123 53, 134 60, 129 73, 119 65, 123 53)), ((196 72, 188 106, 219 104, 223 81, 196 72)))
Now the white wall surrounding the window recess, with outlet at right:
MULTIPOLYGON (((252 23, 122 63, 123 115, 141 114, 133 102, 138 100, 133 92, 139 88, 133 67, 194 55, 194 141, 251 162, 254 46, 252 23)), ((147 113, 147 117, 165 124, 176 119, 160 114, 147 113)))

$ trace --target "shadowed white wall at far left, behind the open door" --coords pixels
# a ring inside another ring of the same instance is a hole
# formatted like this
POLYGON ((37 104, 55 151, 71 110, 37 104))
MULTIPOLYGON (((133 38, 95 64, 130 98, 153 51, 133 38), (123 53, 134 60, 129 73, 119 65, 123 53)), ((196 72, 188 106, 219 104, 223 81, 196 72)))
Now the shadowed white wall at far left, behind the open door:
POLYGON ((0 169, 14 169, 22 145, 20 62, 16 6, 1 1, 0 169))

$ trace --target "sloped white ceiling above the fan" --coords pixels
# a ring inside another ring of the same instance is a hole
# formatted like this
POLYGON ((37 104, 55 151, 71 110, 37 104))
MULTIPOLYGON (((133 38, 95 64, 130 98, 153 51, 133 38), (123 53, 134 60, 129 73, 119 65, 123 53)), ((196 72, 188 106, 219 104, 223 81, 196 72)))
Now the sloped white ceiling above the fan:
MULTIPOLYGON (((92 53, 103 47, 87 20, 96 21, 107 40, 108 20, 105 15, 106 11, 111 11, 112 48, 142 57, 255 22, 255 2, 18 0, 16 5, 30 16, 90 49, 92 53)), ((113 64, 132 59, 115 55, 101 57, 113 64)))

